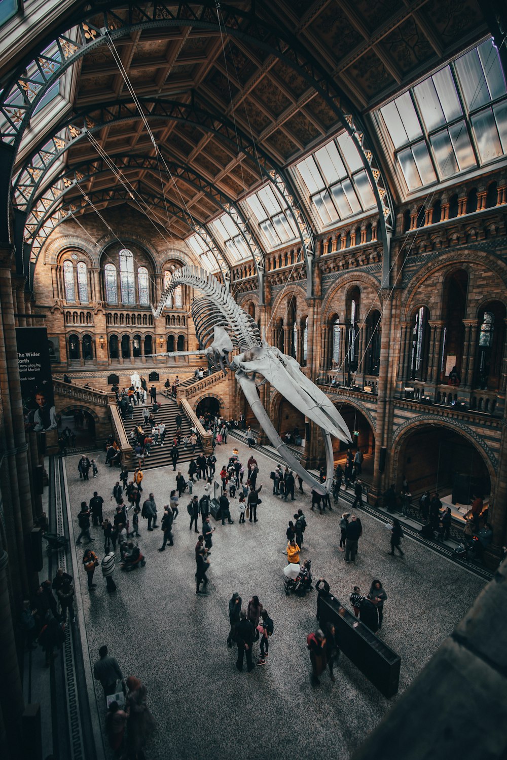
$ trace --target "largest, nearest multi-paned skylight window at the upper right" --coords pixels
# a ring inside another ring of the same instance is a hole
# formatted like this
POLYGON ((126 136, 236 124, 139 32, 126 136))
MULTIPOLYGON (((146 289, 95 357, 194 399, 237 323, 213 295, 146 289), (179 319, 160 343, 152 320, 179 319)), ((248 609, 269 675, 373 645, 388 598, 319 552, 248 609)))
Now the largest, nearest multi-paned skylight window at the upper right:
POLYGON ((408 190, 507 153, 507 89, 493 40, 382 106, 377 113, 408 190))

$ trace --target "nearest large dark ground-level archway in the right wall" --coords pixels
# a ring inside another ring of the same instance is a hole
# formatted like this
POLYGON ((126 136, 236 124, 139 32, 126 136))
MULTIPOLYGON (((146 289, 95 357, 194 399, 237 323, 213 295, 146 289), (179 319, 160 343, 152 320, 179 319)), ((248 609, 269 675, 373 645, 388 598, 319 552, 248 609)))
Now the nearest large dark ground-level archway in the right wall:
POLYGON ((453 514, 465 515, 474 496, 487 501, 490 473, 479 449, 464 435, 445 426, 410 429, 401 441, 395 472, 399 489, 403 478, 410 492, 438 492, 453 514))

